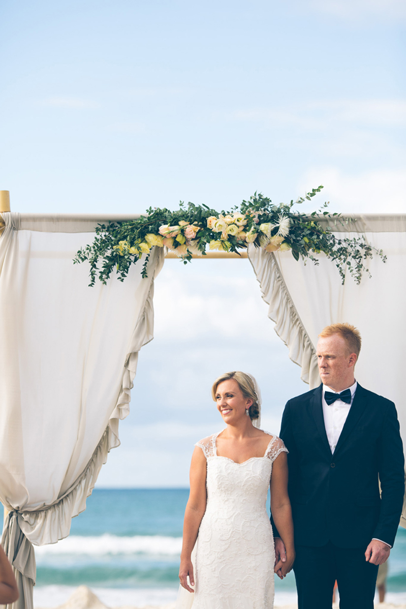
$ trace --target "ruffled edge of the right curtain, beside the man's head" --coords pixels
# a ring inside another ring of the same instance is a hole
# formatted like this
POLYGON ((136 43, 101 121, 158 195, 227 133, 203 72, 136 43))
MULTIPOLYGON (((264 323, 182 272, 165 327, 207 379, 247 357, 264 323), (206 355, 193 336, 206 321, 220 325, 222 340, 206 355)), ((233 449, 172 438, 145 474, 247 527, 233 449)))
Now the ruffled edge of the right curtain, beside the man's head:
POLYGON ((250 245, 248 258, 260 284, 262 298, 269 305, 268 317, 289 349, 291 361, 301 367, 301 379, 311 388, 320 383, 316 350, 294 306, 276 257, 250 245))

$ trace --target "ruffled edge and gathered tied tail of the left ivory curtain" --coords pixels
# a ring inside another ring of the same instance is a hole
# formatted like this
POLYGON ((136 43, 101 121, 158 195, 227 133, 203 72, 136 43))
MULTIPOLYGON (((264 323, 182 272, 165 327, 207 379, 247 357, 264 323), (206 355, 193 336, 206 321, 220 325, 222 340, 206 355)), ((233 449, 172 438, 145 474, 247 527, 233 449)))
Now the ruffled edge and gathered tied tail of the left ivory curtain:
MULTIPOLYGON (((1 263, 7 255, 13 231, 18 230, 20 226, 20 214, 5 213, 3 217, 5 228, 1 234, 1 263)), ((68 537, 71 519, 86 509, 87 498, 93 491, 102 465, 107 462, 107 455, 110 449, 119 446, 118 422, 129 414, 130 390, 134 386, 133 381, 137 371, 138 351, 153 338, 154 309, 152 299, 154 295, 154 280, 162 269, 163 262, 164 253, 162 248, 153 248, 148 263, 149 272, 153 270, 148 295, 129 341, 129 352, 127 353, 126 364, 124 365, 121 391, 119 392, 112 415, 110 415, 109 424, 100 442, 94 449, 93 456, 84 472, 66 491, 65 495, 60 497, 54 504, 48 505, 45 509, 37 510, 36 512, 16 512, 16 510, 11 510, 7 514, 1 543, 4 548, 7 548, 7 555, 15 569, 20 590, 20 599, 16 600, 12 605, 6 605, 9 609, 33 608, 32 591, 35 585, 36 567, 32 544, 42 545, 40 543, 41 537, 54 540, 46 543, 57 543, 57 541, 68 537), (62 518, 60 517, 61 515, 62 518), (33 535, 34 532, 35 535, 33 535), (37 543, 30 541, 30 537, 35 538, 37 543)))

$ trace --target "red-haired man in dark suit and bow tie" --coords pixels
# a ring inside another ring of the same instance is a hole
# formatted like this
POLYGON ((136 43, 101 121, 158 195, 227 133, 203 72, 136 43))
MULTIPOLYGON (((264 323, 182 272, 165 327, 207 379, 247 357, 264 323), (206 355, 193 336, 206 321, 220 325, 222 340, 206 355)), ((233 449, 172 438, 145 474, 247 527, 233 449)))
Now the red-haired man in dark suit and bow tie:
POLYGON ((378 565, 388 559, 402 512, 396 409, 355 381, 360 348, 354 326, 324 328, 317 344, 322 385, 289 400, 283 412, 299 609, 331 609, 335 580, 340 609, 372 609, 378 565))

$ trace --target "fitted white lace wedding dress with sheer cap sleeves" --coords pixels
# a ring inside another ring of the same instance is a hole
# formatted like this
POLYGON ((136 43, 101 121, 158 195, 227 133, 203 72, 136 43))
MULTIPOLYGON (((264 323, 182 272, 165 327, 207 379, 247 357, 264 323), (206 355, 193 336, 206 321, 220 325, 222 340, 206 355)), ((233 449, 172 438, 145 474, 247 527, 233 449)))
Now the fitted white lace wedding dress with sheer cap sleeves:
POLYGON ((287 448, 271 436, 263 457, 235 463, 218 456, 218 435, 196 444, 207 459, 207 507, 194 548, 194 593, 180 588, 176 609, 272 609, 275 551, 265 504, 272 463, 287 448))

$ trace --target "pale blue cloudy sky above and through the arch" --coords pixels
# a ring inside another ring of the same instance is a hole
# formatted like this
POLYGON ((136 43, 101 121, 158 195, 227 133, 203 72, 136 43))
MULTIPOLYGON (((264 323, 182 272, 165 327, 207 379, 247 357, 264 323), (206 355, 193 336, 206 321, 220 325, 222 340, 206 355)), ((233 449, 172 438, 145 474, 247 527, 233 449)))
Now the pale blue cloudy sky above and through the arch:
MULTIPOLYGON (((323 185, 302 211, 404 213, 405 6, 3 0, 0 189, 20 213, 134 214, 323 185)), ((257 377, 271 432, 307 389, 248 260, 167 260, 154 306, 99 487, 186 486, 226 370, 257 377)))

